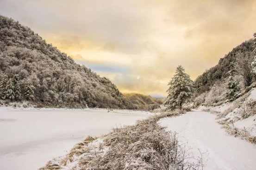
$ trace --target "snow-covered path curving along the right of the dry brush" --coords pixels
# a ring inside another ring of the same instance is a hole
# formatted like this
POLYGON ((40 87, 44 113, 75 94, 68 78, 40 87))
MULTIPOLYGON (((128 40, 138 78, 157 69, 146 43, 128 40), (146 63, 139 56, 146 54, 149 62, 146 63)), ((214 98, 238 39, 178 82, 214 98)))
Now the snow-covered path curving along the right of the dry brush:
POLYGON ((179 133, 179 140, 191 147, 195 156, 204 153, 204 170, 256 170, 256 145, 227 135, 215 122, 215 115, 189 111, 160 123, 179 133))

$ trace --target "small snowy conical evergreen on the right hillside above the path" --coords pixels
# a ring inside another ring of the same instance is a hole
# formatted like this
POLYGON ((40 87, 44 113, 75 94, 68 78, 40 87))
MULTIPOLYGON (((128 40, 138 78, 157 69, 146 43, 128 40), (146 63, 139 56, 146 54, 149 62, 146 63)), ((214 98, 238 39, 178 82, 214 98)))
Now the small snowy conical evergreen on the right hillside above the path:
POLYGON ((237 85, 237 81, 233 79, 233 76, 229 77, 228 90, 226 91, 226 98, 235 100, 240 92, 240 89, 237 85))

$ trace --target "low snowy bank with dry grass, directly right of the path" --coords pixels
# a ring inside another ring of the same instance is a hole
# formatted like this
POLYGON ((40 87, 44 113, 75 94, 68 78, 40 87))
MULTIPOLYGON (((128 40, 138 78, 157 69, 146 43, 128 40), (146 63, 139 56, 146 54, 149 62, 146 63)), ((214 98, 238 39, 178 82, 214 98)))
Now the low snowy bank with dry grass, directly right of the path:
POLYGON ((217 122, 230 135, 256 143, 256 88, 232 102, 219 106, 200 106, 198 109, 216 114, 217 122))

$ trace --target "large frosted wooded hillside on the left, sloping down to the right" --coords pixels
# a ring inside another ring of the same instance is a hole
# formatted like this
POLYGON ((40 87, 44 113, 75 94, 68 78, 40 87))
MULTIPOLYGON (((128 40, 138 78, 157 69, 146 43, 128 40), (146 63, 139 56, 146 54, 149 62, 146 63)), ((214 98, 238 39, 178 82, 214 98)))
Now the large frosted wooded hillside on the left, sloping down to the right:
POLYGON ((133 108, 109 79, 76 64, 18 21, 0 16, 0 81, 8 76, 12 84, 15 74, 20 78, 18 100, 36 106, 133 108))

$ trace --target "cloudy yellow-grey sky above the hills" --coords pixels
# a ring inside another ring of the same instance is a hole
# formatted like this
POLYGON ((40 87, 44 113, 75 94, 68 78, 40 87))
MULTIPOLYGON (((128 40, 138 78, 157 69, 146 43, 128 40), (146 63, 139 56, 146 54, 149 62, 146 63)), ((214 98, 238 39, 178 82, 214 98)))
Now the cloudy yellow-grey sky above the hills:
POLYGON ((166 96, 256 32, 256 0, 0 0, 0 14, 106 76, 122 93, 166 96))

